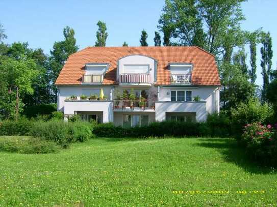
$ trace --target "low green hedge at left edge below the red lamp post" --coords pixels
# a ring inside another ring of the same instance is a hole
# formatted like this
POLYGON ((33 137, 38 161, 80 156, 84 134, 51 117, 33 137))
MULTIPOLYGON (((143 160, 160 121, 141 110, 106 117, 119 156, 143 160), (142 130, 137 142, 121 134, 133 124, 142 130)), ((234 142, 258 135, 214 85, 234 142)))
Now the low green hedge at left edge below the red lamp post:
POLYGON ((30 135, 34 122, 21 117, 18 121, 5 120, 0 123, 0 135, 30 135))

